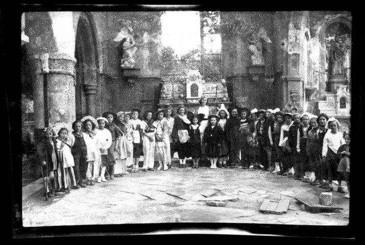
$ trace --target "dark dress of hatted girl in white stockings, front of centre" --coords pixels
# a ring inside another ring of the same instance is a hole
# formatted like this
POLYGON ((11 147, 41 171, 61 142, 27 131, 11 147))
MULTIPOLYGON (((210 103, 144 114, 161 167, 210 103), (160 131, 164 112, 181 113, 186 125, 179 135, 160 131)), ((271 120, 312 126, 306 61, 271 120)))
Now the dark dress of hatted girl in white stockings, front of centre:
POLYGON ((222 144, 224 140, 224 132, 221 127, 215 125, 213 128, 210 124, 204 130, 204 142, 207 143, 206 156, 219 157, 220 148, 218 144, 222 144))

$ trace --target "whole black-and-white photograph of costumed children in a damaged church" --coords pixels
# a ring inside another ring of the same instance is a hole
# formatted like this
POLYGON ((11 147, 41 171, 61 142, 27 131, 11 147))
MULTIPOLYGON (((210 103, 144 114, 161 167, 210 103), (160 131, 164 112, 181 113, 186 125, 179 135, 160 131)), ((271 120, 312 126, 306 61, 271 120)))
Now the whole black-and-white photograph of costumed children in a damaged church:
POLYGON ((7 103, 23 236, 349 227, 351 11, 18 7, 7 103))

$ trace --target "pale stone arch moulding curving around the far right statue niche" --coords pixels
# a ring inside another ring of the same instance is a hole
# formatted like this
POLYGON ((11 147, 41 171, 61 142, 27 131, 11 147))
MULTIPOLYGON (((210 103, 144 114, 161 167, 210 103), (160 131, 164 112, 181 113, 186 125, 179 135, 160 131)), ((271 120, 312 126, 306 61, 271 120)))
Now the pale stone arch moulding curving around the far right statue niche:
POLYGON ((320 70, 322 71, 320 72, 321 76, 319 77, 321 95, 325 94, 326 90, 325 87, 322 88, 321 84, 323 84, 323 81, 327 80, 326 74, 324 72, 326 69, 326 30, 331 24, 336 22, 345 24, 350 29, 350 31, 352 31, 352 20, 347 15, 337 15, 333 18, 326 20, 317 31, 318 35, 316 36, 319 37, 320 41, 320 70))

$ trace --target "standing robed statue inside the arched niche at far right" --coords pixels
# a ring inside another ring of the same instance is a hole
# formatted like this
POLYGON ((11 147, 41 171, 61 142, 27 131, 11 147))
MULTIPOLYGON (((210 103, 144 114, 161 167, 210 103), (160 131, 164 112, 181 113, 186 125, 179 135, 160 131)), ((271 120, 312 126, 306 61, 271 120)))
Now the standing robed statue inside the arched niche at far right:
MULTIPOLYGON (((343 38, 345 42, 346 37, 343 38)), ((339 41, 338 34, 334 36, 334 40, 330 42, 329 54, 329 73, 330 75, 344 75, 344 58, 347 47, 339 41)))

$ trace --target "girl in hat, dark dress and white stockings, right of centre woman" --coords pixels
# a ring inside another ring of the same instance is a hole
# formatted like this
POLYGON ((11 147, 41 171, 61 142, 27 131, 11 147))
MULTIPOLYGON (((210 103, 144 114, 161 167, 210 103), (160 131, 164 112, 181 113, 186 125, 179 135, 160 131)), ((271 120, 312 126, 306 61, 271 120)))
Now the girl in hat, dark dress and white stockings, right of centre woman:
POLYGON ((216 162, 220 156, 220 147, 224 140, 223 129, 217 126, 217 115, 208 117, 208 126, 204 130, 204 144, 206 146, 206 156, 210 160, 210 168, 217 168, 216 162))

